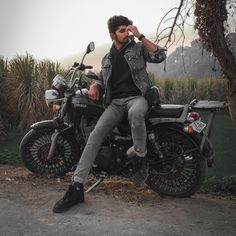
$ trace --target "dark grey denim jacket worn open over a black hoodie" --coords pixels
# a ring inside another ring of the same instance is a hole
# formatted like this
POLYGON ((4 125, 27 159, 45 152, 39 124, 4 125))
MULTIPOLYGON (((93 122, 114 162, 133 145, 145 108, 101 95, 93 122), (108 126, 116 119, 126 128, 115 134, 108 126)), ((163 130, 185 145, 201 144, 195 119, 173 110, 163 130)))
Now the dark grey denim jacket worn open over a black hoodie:
MULTIPOLYGON (((158 47, 156 53, 149 52, 141 42, 132 44, 133 46, 124 49, 124 57, 130 67, 134 84, 140 89, 143 96, 151 88, 152 83, 149 80, 146 70, 146 63, 160 63, 166 59, 165 51, 158 47)), ((111 102, 111 90, 108 80, 112 72, 111 53, 107 53, 102 59, 102 69, 98 84, 104 92, 104 105, 111 102)))

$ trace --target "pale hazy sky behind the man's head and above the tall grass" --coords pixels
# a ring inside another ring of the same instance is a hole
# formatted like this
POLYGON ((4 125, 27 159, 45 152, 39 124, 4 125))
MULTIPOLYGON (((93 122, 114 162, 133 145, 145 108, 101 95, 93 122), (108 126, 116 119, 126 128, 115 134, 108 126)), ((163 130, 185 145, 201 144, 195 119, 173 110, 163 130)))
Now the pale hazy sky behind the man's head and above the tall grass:
POLYGON ((0 0, 0 55, 26 51, 52 60, 110 42, 107 20, 125 15, 140 32, 156 31, 163 15, 180 0, 0 0))

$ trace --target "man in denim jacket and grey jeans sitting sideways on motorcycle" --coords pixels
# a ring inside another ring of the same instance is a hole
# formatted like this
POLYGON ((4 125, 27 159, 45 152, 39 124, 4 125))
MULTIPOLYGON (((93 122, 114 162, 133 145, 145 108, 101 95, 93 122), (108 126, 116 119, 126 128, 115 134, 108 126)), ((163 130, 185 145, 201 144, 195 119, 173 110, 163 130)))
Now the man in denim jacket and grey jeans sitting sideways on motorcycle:
POLYGON ((165 59, 165 53, 141 34, 127 17, 111 17, 108 29, 113 45, 102 60, 100 82, 91 85, 88 92, 92 100, 98 100, 103 93, 106 109, 89 136, 74 172, 73 184, 53 208, 56 213, 64 212, 84 201, 83 184, 99 147, 125 113, 128 114, 131 126, 134 158, 137 159, 137 169, 131 179, 135 185, 140 185, 148 176, 145 126, 148 103, 144 96, 150 89, 151 82, 146 62, 159 63, 165 59), (134 38, 140 42, 136 43, 134 38))

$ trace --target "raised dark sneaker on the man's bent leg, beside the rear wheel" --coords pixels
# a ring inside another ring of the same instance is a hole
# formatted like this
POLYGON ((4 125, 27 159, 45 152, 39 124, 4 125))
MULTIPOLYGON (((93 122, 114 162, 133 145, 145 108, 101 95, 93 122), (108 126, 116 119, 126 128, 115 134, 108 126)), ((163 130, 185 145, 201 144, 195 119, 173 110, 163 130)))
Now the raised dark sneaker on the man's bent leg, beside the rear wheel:
POLYGON ((130 179, 136 187, 140 187, 147 180, 149 164, 147 157, 135 156, 134 158, 137 158, 137 164, 130 179))

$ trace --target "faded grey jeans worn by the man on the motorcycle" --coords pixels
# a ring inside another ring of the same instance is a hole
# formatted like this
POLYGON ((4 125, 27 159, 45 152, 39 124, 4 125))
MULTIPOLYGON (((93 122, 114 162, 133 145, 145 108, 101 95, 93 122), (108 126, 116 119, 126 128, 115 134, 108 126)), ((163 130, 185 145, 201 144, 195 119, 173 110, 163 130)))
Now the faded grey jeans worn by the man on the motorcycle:
POLYGON ((74 182, 84 183, 106 136, 119 124, 127 112, 131 126, 134 151, 138 156, 146 155, 145 115, 148 103, 142 96, 113 99, 99 118, 90 134, 78 166, 73 175, 74 182))

